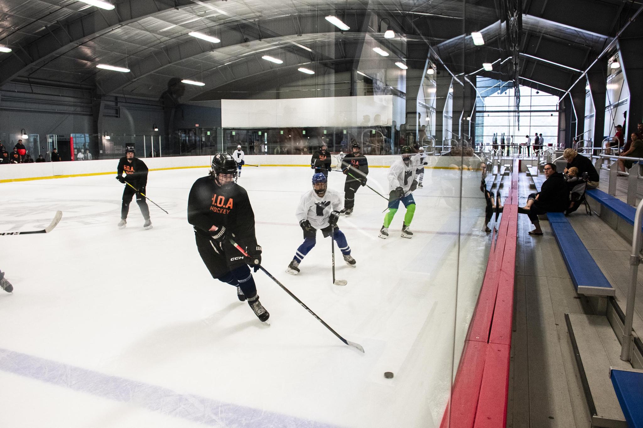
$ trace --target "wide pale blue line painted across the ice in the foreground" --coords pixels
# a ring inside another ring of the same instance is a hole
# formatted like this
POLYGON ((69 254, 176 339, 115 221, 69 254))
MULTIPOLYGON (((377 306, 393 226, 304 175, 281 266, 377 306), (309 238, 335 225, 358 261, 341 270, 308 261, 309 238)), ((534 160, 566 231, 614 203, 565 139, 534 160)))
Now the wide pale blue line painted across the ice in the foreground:
POLYGON ((325 428, 333 426, 239 404, 220 402, 199 395, 180 394, 162 386, 105 375, 98 371, 2 348, 0 348, 0 370, 213 427, 325 428))

